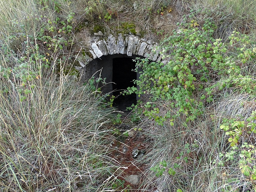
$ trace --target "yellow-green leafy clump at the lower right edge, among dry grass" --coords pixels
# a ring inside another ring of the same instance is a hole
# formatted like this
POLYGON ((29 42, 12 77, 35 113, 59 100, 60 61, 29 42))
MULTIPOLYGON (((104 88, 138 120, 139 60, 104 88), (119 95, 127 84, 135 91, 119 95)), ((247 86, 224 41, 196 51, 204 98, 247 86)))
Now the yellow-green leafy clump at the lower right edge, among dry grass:
POLYGON ((225 135, 229 137, 228 142, 232 148, 229 149, 229 152, 221 153, 221 160, 218 162, 219 166, 225 166, 230 161, 236 162, 236 167, 239 167, 241 173, 250 181, 253 190, 256 190, 256 153, 253 139, 256 136, 255 119, 255 111, 246 121, 223 119, 220 129, 225 131, 225 135), (251 144, 248 144, 247 141, 251 144), (240 142, 242 144, 239 144, 240 142))

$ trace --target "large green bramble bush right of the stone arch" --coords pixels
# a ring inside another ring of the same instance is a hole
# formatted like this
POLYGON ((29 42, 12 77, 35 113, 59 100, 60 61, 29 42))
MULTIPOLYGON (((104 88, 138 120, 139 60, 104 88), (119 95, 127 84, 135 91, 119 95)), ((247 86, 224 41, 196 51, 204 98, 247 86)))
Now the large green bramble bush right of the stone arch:
POLYGON ((223 43, 213 38, 216 26, 209 20, 199 25, 196 20, 184 19, 179 25, 172 36, 164 39, 163 46, 158 47, 163 59, 169 62, 137 58, 136 69, 143 69, 139 80, 135 80, 140 88, 133 86, 125 93, 150 97, 143 106, 144 115, 161 125, 177 116, 193 121, 224 88, 255 94, 255 80, 241 73, 241 67, 250 66, 255 59, 256 49, 248 46, 251 43, 248 36, 234 31, 229 43, 223 43), (237 57, 232 56, 234 52, 237 57), (169 111, 159 115, 156 100, 168 101, 169 111))

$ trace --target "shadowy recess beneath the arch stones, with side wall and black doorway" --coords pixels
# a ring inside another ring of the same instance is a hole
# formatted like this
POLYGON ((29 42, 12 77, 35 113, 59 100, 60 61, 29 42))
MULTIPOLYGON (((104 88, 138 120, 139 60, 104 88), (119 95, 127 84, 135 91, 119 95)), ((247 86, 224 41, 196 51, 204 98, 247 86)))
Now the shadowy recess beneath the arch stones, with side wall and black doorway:
MULTIPOLYGON (((90 79, 92 76, 98 78, 100 75, 106 83, 102 85, 101 91, 103 94, 111 93, 116 98, 113 106, 120 111, 125 111, 127 107, 137 103, 136 94, 122 95, 120 92, 126 90, 127 87, 136 86, 133 80, 139 78, 139 73, 132 71, 135 69, 136 63, 133 59, 140 57, 139 55, 113 54, 103 55, 100 58, 92 60, 85 66, 85 79, 90 79)), ((101 86, 101 85, 100 85, 101 86)))

